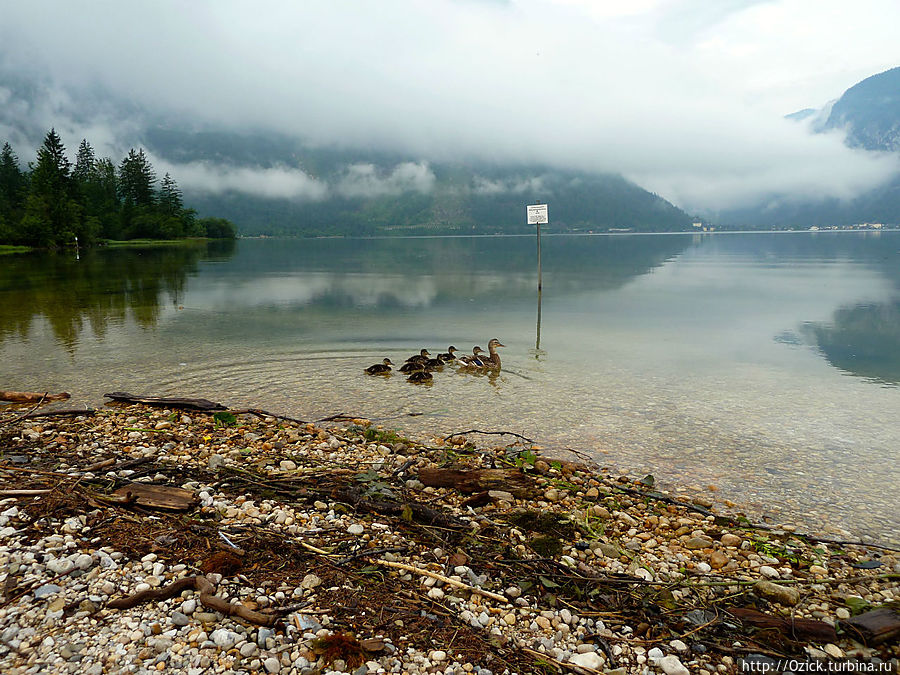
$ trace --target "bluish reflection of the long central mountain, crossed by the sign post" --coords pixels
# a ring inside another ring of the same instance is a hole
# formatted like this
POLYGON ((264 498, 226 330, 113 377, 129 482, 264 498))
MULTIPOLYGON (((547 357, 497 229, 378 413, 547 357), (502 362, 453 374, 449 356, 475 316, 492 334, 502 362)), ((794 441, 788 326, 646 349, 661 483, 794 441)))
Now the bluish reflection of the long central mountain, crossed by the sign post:
MULTIPOLYGON (((684 236, 545 236, 545 293, 615 289, 691 244, 684 236)), ((531 237, 243 242, 231 300, 322 307, 424 307, 459 300, 531 301, 531 237)))

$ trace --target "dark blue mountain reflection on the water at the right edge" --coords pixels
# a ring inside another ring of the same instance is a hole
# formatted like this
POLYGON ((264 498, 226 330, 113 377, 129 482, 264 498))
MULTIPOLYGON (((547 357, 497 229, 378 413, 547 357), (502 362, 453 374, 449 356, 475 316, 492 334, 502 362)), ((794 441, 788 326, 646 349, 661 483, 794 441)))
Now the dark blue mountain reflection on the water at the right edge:
POLYGON ((843 307, 830 324, 807 324, 804 333, 835 368, 900 384, 900 299, 843 307))

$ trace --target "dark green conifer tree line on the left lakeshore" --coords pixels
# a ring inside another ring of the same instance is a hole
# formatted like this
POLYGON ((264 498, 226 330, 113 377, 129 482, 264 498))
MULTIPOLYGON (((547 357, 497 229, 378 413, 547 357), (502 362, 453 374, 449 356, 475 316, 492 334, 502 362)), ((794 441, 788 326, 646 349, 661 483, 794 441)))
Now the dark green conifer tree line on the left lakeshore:
POLYGON ((168 173, 157 181, 143 149, 118 164, 85 139, 74 165, 51 129, 23 171, 9 143, 0 150, 0 244, 57 248, 101 240, 234 238, 224 218, 198 218, 168 173))

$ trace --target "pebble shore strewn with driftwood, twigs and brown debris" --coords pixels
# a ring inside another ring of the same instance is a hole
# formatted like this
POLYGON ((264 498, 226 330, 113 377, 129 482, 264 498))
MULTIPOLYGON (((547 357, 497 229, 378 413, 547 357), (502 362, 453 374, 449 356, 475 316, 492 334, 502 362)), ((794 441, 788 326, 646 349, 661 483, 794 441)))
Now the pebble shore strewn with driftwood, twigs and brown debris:
POLYGON ((895 550, 514 437, 398 433, 6 410, 0 672, 898 672, 895 550))

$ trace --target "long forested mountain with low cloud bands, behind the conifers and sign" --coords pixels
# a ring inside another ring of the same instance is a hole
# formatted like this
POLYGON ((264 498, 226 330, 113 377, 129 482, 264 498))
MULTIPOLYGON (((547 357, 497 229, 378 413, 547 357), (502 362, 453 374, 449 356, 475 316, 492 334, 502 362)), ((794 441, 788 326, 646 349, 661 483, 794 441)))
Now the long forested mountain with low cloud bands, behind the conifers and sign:
POLYGON ((81 139, 67 129, 99 130, 105 152, 121 157, 145 148, 160 176, 171 173, 187 206, 228 218, 245 235, 531 232, 525 205, 538 200, 549 204, 548 231, 675 231, 692 221, 615 174, 436 161, 258 130, 198 128, 99 87, 59 89, 4 67, 2 58, 0 101, 0 145, 10 141, 23 164, 48 131, 41 120, 63 134, 69 154, 81 139))

